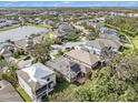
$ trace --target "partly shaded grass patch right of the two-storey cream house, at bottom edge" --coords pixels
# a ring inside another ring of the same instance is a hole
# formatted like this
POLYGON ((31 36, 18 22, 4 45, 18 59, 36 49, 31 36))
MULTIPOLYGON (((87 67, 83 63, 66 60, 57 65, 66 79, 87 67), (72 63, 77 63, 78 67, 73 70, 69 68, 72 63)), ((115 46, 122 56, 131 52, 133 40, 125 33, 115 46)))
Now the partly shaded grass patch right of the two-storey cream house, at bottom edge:
POLYGON ((53 101, 53 102, 69 102, 78 101, 76 97, 77 85, 69 84, 66 81, 60 81, 57 83, 53 92, 49 94, 43 101, 53 101))

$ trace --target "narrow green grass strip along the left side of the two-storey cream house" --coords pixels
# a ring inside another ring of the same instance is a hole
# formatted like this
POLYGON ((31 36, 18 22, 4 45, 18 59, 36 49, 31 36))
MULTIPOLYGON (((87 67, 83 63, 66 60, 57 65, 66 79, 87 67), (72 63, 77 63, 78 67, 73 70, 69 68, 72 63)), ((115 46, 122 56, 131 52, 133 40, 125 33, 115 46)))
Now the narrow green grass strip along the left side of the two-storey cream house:
POLYGON ((19 94, 23 97, 23 100, 26 102, 32 102, 31 97, 26 93, 26 91, 23 89, 21 89, 20 86, 17 87, 17 91, 19 92, 19 94))

